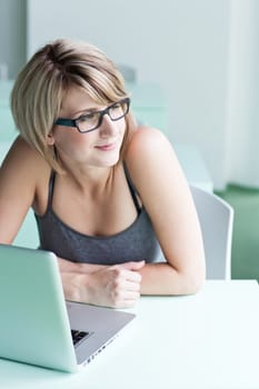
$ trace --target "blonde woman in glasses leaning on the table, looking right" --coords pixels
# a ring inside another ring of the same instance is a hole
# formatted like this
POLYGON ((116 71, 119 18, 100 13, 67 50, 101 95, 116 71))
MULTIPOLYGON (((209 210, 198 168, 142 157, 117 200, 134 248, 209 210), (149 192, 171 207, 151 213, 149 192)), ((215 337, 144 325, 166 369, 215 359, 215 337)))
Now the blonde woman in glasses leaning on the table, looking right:
POLYGON ((11 109, 20 134, 0 169, 0 242, 13 241, 32 207, 67 299, 121 308, 201 287, 188 183, 167 138, 135 121, 103 52, 44 46, 18 76, 11 109))

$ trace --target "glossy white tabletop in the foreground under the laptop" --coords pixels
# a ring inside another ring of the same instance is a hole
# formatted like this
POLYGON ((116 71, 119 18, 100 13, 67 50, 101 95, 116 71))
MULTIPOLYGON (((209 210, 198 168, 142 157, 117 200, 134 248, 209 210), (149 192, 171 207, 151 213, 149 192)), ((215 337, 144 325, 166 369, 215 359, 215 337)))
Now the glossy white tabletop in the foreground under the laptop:
POLYGON ((0 387, 19 389, 258 389, 257 281, 207 281, 195 296, 141 297, 128 326, 82 371, 0 360, 0 387))

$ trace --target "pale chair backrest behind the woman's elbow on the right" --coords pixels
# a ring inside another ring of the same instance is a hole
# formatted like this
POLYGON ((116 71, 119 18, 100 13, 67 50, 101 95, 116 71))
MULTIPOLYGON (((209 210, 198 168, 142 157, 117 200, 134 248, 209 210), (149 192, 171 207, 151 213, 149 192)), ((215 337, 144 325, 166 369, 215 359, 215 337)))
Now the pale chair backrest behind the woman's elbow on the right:
POLYGON ((207 279, 231 278, 232 207, 198 187, 190 187, 203 236, 207 279))

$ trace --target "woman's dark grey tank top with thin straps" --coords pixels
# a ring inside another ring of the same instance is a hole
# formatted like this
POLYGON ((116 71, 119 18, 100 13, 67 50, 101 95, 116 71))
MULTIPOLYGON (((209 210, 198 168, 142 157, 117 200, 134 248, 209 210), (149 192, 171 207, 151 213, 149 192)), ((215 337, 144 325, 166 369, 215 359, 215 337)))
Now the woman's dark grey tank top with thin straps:
POLYGON ((129 189, 137 207, 138 217, 126 230, 108 236, 94 237, 80 233, 62 222, 52 210, 54 172, 49 181, 49 198, 46 213, 36 216, 40 248, 53 251, 58 257, 73 262, 114 265, 127 261, 163 261, 149 216, 139 207, 132 182, 124 169, 129 189))

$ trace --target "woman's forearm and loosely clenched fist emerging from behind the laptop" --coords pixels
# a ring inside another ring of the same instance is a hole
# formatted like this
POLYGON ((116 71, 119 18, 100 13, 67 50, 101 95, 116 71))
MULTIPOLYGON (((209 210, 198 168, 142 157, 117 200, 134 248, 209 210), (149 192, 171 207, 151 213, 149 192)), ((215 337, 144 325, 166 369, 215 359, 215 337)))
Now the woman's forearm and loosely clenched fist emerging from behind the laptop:
POLYGON ((145 262, 114 266, 73 263, 59 258, 59 268, 66 299, 98 306, 128 308, 140 296, 145 262))

